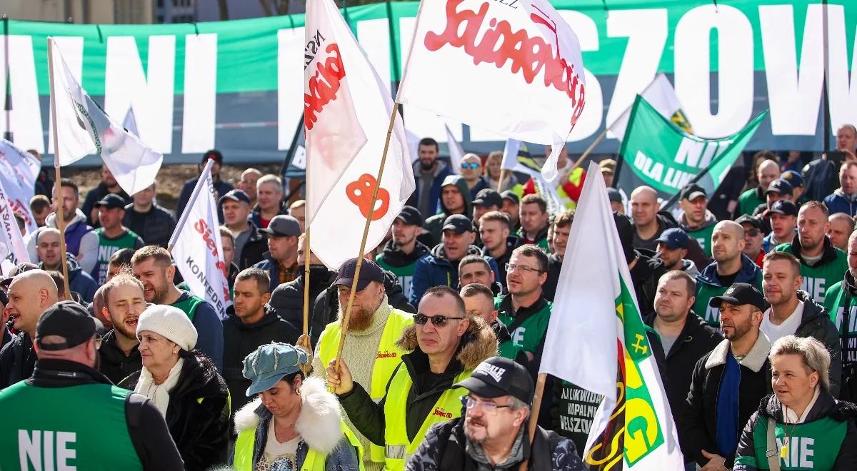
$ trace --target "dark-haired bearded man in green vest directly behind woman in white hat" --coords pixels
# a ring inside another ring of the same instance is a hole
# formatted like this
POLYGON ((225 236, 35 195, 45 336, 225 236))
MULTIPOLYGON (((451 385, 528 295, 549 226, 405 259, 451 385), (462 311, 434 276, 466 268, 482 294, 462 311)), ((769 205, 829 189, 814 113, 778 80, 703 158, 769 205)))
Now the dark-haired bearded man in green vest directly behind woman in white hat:
POLYGON ((131 258, 134 276, 143 283, 146 302, 178 307, 194 323, 196 349, 206 354, 218 369, 223 366, 223 325, 214 308, 201 297, 176 288, 172 283, 176 265, 164 247, 142 247, 131 258))

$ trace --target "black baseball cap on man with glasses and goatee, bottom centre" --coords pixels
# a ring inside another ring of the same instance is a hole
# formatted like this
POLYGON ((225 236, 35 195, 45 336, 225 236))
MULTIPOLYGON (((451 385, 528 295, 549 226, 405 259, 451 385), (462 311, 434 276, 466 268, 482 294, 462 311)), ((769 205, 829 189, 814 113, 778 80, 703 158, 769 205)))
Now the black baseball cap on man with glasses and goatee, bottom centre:
POLYGON ((452 387, 461 387, 487 399, 500 396, 512 396, 524 404, 533 401, 533 379, 520 363, 492 356, 482 361, 470 378, 464 379, 452 387))

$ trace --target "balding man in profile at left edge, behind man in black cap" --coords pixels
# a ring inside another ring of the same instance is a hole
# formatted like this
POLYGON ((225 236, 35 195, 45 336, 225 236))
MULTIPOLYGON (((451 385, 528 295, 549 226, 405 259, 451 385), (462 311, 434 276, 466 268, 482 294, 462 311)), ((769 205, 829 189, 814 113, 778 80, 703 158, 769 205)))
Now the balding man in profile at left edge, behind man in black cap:
POLYGON ((8 295, 6 310, 19 333, 0 350, 0 390, 33 374, 36 325, 45 310, 57 303, 57 283, 47 271, 24 271, 9 284, 8 295))

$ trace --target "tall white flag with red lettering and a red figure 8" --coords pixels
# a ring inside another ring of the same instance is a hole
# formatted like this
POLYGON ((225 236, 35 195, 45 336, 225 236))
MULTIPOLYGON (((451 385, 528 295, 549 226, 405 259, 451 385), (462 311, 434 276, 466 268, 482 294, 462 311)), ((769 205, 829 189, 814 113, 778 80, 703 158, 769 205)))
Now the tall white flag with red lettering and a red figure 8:
POLYGON ((307 213, 307 224, 312 229, 309 243, 325 265, 336 269, 346 259, 357 257, 367 218, 371 219, 371 224, 366 250, 383 241, 393 219, 413 193, 415 182, 405 127, 396 112, 378 200, 375 207, 371 207, 375 178, 393 116, 393 100, 333 0, 307 3, 306 33, 309 46, 305 51, 305 65, 310 77, 307 84, 312 86, 313 78, 325 80, 325 83, 316 81, 318 90, 323 93, 305 95, 311 102, 305 103, 306 112, 309 115, 313 110, 316 119, 313 129, 310 130, 309 125, 307 128, 308 206, 315 208, 312 214, 307 213), (321 132, 320 127, 325 122, 338 123, 337 128, 332 129, 341 128, 340 131, 327 132, 340 133, 333 141, 343 149, 338 158, 356 154, 350 163, 329 168, 318 147, 315 152, 310 151, 310 133, 321 132), (353 125, 345 125, 352 122, 353 125), (358 139, 361 134, 357 133, 358 129, 364 137, 363 144, 358 139), (320 172, 330 175, 318 176, 320 172), (328 187, 321 183, 322 178, 329 179, 334 174, 337 178, 325 191, 328 187), (319 187, 315 188, 316 185, 319 187), (318 194, 324 196, 318 197, 318 194))

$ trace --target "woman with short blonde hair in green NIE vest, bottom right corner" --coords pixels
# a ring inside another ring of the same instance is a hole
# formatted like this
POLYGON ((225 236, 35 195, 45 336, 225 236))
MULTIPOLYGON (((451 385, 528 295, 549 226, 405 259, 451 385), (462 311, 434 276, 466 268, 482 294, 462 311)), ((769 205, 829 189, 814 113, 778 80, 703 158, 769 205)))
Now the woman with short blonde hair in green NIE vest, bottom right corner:
POLYGON ((857 469, 857 405, 830 395, 830 353, 789 335, 770 349, 771 388, 741 433, 734 471, 857 469))

